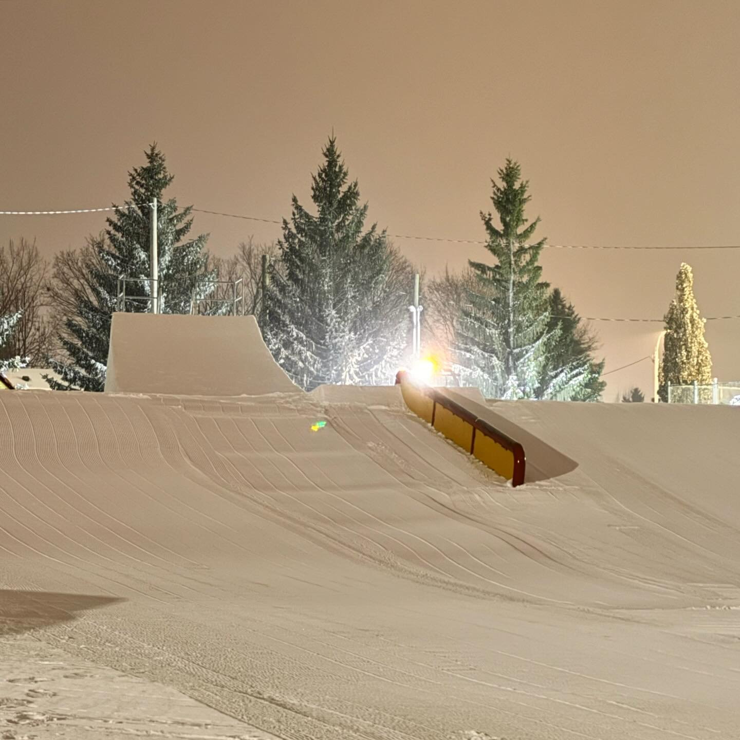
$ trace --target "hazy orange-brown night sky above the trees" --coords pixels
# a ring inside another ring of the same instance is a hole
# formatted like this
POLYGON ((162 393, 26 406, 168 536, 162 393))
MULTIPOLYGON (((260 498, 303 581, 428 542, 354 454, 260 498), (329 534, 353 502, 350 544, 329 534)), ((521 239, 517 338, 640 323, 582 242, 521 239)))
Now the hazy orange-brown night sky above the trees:
MULTIPOLYGON (((127 197, 157 141, 181 206, 266 219, 305 205, 332 132, 394 235, 482 240, 505 158, 554 244, 740 244, 740 3, 0 0, 0 210, 127 197)), ((82 246, 104 214, 0 216, 0 241, 82 246)), ((209 248, 280 236, 195 214, 209 248)), ((482 246, 394 238, 428 272, 482 246)), ((740 314, 740 249, 545 249, 545 279, 589 317, 660 318, 682 260, 704 316, 740 314)), ((606 371, 660 323, 593 324, 606 371)), ((740 319, 707 322, 740 380, 740 319)), ((608 375, 605 400, 648 360, 608 375)))

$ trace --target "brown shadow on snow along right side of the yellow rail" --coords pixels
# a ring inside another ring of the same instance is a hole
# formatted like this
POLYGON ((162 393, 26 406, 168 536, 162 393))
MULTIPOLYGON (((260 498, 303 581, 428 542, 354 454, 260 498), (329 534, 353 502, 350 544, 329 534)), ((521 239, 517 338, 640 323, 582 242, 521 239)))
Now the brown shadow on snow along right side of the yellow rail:
MULTIPOLYGON (((527 468, 525 471, 524 482, 534 483, 540 480, 551 480, 566 473, 570 473, 578 467, 578 462, 568 455, 562 454, 548 443, 539 439, 531 432, 522 428, 516 422, 513 422, 501 414, 494 411, 496 401, 480 403, 475 399, 474 394, 460 394, 457 391, 445 389, 445 395, 452 400, 460 403, 460 406, 468 408, 480 419, 487 421, 495 428, 507 434, 513 440, 522 445, 527 456, 527 468)), ((482 398, 482 397, 481 397, 482 398)), ((505 403, 505 402, 504 402, 505 403)), ((511 402, 510 402, 511 403, 511 402)), ((540 401, 538 403, 547 403, 540 401)))

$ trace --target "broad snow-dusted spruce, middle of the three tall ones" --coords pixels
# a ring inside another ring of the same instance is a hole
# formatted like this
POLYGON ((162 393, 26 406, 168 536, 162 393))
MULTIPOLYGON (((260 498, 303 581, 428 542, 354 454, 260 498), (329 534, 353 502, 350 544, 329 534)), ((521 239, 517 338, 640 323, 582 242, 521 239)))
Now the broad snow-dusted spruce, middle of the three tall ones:
MULTIPOLYGON (((267 346, 298 386, 392 383, 406 345, 405 260, 373 224, 332 136, 312 175, 316 215, 292 198, 280 269, 260 317, 267 346)), ((411 274, 411 270, 406 272, 411 274)), ((406 288, 408 290, 408 288, 406 288)))

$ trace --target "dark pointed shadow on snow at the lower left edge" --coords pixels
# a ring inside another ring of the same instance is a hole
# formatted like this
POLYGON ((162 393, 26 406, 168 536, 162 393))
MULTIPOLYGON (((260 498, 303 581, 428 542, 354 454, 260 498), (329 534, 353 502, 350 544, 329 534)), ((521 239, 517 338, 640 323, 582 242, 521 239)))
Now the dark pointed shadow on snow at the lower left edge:
POLYGON ((19 635, 61 622, 72 622, 78 612, 125 601, 115 596, 84 593, 16 591, 0 588, 0 637, 19 635))

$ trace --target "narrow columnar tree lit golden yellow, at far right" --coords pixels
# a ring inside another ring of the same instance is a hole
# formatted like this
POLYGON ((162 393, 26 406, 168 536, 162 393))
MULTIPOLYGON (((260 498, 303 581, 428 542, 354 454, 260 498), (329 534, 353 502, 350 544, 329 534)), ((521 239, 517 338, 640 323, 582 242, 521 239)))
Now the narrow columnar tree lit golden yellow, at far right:
POLYGON ((693 295, 693 272, 684 262, 676 275, 676 295, 665 314, 665 349, 658 379, 662 401, 668 400, 668 383, 712 382, 712 357, 704 339, 704 323, 693 295))

